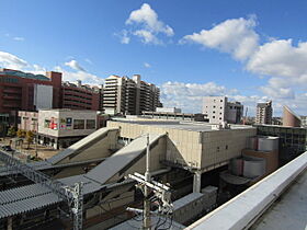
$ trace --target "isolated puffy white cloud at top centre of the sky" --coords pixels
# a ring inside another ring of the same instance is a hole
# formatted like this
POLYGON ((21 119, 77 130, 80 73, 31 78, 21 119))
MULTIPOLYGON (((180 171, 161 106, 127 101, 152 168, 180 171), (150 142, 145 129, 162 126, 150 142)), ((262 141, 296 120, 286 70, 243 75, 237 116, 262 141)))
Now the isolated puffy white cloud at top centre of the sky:
POLYGON ((130 35, 141 38, 145 44, 161 45, 163 42, 158 38, 159 35, 173 36, 173 28, 158 19, 158 14, 148 3, 144 3, 140 9, 134 10, 125 22, 126 25, 135 26, 132 32, 123 30, 123 44, 128 44, 130 35))

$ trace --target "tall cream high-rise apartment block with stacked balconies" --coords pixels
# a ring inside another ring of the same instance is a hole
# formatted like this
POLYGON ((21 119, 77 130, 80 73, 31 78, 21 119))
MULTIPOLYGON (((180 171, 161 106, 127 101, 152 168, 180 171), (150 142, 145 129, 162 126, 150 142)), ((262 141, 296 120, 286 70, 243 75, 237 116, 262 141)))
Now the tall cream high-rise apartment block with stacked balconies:
POLYGON ((103 108, 107 114, 140 114, 155 111, 160 105, 160 91, 151 83, 140 81, 140 76, 110 76, 103 89, 103 108))

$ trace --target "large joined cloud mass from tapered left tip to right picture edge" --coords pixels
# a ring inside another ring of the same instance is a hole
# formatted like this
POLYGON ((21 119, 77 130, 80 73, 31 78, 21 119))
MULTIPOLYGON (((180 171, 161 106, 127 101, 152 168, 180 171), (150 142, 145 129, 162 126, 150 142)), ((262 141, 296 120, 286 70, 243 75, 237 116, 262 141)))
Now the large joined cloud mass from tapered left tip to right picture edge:
MULTIPOLYGON (((255 25, 255 16, 229 19, 211 30, 186 35, 180 43, 201 44, 243 60, 246 70, 269 78, 259 92, 276 102, 277 108, 283 103, 291 106, 296 100, 302 102, 304 96, 299 93, 307 90, 307 42, 294 45, 292 39, 270 38, 260 44, 255 25)), ((302 103, 297 107, 302 107, 302 103)))

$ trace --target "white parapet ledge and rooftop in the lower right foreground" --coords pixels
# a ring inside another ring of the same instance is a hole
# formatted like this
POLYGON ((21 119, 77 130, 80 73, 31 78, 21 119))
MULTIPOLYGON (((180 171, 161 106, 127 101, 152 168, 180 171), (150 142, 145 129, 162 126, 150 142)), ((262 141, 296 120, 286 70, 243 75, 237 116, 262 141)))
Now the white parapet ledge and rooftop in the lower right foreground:
POLYGON ((307 152, 186 229, 306 229, 307 152))

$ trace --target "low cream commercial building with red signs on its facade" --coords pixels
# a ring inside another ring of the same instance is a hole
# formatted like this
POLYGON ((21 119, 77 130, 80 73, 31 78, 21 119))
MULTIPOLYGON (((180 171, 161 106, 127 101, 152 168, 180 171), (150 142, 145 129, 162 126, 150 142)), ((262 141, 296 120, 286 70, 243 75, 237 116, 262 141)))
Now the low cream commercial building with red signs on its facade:
POLYGON ((96 129, 96 111, 42 110, 38 140, 54 148, 67 148, 96 129))

